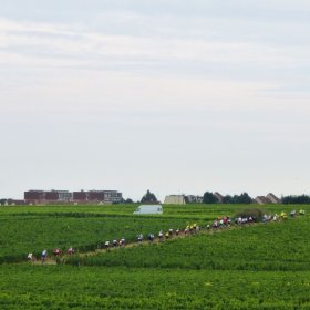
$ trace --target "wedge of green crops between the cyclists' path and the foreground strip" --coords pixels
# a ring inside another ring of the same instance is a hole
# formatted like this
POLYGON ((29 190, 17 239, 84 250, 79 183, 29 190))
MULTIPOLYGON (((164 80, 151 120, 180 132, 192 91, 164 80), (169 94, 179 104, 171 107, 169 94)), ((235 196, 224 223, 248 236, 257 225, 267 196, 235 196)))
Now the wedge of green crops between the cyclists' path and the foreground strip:
POLYGON ((310 270, 307 218, 260 224, 173 239, 96 256, 74 256, 79 266, 214 270, 310 270))

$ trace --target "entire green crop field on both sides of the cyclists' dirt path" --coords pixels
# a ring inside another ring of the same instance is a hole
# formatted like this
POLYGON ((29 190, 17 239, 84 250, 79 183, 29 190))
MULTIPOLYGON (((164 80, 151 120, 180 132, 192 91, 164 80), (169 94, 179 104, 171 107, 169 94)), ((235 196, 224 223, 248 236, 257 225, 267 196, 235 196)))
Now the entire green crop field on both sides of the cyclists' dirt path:
POLYGON ((1 208, 0 309, 310 309, 308 216, 87 255, 107 239, 204 227, 245 206, 167 206, 163 216, 135 208, 1 208), (84 254, 66 265, 24 262, 30 250, 69 246, 84 254))

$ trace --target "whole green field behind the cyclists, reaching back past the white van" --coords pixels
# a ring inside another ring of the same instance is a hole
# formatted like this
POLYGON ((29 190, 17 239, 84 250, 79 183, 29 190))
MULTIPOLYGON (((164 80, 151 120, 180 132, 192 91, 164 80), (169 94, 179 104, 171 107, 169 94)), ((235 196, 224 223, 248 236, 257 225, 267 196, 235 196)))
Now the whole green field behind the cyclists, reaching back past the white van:
POLYGON ((188 221, 204 225, 215 215, 206 207, 188 207, 177 213, 167 207, 164 216, 133 215, 136 206, 52 206, 9 207, 0 213, 0 262, 24 260, 32 251, 37 256, 43 248, 68 249, 74 246, 79 251, 100 247, 105 240, 124 237, 133 241, 136 235, 170 227, 185 227, 188 221))

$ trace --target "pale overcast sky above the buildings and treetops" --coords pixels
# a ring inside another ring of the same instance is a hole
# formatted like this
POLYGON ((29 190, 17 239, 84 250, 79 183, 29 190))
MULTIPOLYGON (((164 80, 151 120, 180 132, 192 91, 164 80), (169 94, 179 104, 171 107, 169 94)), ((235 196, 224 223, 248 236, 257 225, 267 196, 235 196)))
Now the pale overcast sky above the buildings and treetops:
POLYGON ((310 194, 309 0, 0 0, 0 197, 310 194))

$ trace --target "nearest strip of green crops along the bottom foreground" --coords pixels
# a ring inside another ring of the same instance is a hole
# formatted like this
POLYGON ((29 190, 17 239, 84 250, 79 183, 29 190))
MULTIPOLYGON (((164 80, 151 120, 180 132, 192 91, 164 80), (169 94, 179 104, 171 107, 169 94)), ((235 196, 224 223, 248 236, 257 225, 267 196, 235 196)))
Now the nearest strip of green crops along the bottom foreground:
POLYGON ((310 272, 0 266, 1 309, 309 309, 310 272))

